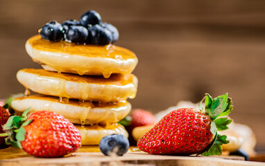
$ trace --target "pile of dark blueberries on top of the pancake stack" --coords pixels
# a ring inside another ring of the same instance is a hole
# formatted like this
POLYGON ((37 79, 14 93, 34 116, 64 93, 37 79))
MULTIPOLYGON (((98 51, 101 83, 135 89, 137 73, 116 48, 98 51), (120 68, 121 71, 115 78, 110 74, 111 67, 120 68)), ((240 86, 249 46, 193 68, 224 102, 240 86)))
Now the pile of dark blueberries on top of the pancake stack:
POLYGON ((62 24, 51 21, 45 24, 40 35, 43 39, 76 44, 107 45, 117 42, 119 31, 112 24, 102 23, 101 15, 94 10, 85 12, 80 20, 69 19, 62 24))

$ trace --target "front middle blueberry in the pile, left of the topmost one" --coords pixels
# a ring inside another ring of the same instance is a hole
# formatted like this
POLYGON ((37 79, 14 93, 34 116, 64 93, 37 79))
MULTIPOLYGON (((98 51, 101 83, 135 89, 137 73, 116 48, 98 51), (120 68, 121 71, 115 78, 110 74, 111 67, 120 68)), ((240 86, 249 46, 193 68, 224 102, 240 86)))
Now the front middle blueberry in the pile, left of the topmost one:
POLYGON ((70 26, 69 30, 67 30, 67 33, 65 34, 65 40, 67 42, 82 44, 86 42, 87 36, 87 28, 83 26, 70 26))

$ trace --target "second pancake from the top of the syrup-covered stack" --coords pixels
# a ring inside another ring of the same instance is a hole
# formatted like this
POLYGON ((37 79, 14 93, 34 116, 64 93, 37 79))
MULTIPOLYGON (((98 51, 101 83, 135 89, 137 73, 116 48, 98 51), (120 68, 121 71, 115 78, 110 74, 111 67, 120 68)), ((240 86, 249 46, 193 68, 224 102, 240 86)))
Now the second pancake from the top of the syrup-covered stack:
POLYGON ((132 74, 114 74, 105 79, 99 75, 80 76, 33 68, 18 71, 17 80, 27 89, 44 95, 100 102, 135 98, 138 82, 132 74))

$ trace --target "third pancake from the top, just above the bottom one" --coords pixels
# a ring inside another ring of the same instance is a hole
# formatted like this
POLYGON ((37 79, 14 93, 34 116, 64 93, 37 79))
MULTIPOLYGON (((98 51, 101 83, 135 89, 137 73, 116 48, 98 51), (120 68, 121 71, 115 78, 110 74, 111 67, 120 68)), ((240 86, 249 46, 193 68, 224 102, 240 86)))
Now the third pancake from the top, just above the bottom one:
POLYGON ((15 98, 11 103, 17 115, 21 115, 31 107, 30 113, 37 111, 54 111, 76 124, 97 124, 119 122, 128 115, 131 105, 126 101, 82 102, 78 100, 62 100, 46 95, 29 95, 15 98))

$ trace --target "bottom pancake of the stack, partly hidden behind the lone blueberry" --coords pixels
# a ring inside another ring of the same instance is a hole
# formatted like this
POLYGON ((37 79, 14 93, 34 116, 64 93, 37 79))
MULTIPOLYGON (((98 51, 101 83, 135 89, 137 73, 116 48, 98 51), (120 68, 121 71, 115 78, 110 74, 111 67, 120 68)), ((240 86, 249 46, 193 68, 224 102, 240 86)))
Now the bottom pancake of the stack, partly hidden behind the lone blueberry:
POLYGON ((114 133, 121 134, 128 138, 126 129, 121 124, 106 124, 104 127, 99 125, 85 126, 75 125, 81 133, 81 145, 99 145, 101 138, 114 133))

